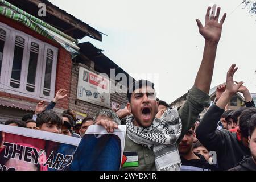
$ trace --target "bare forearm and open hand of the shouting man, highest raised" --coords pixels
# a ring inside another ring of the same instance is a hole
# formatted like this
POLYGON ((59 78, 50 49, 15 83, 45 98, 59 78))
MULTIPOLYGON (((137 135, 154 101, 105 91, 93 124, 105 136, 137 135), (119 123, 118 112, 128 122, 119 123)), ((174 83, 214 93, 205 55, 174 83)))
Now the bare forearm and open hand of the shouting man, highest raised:
POLYGON ((205 39, 204 55, 199 71, 197 72, 195 86, 205 93, 209 93, 210 84, 212 82, 214 61, 216 57, 218 41, 221 38, 222 24, 225 21, 226 13, 222 16, 220 23, 220 7, 217 9, 216 16, 209 16, 210 7, 205 15, 205 26, 203 27, 199 19, 196 19, 199 32, 205 39))

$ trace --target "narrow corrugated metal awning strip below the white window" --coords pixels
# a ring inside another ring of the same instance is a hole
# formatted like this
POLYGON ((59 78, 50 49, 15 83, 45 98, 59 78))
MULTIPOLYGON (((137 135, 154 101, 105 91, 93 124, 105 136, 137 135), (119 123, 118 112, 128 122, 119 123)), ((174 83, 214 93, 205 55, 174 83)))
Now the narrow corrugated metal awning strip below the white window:
POLYGON ((11 98, 0 98, 0 106, 22 109, 25 111, 34 111, 36 107, 36 103, 14 100, 11 98))

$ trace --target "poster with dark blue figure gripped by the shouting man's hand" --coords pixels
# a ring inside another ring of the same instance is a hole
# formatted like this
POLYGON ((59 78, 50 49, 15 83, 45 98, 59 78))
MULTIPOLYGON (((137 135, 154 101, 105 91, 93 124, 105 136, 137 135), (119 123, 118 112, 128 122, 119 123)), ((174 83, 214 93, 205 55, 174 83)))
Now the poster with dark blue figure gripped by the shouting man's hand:
POLYGON ((77 147, 68 170, 119 171, 125 148, 125 134, 125 125, 119 125, 114 133, 107 133, 100 125, 90 126, 77 147))

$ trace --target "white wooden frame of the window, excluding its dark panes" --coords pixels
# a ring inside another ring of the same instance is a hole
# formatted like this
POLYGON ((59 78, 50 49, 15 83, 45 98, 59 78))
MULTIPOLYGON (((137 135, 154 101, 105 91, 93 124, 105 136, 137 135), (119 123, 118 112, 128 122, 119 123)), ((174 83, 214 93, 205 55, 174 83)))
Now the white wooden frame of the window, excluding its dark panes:
POLYGON ((16 94, 19 96, 35 98, 38 100, 51 101, 55 94, 55 81, 56 81, 56 71, 57 71, 57 57, 59 54, 59 49, 52 46, 42 40, 36 39, 31 35, 24 32, 16 30, 15 28, 9 27, 7 24, 0 22, 0 28, 6 31, 5 47, 3 50, 3 61, 2 61, 2 71, 0 77, 0 91, 16 94), (7 35, 8 32, 8 35, 7 35), (13 68, 14 50, 15 50, 15 39, 16 36, 21 36, 25 39, 23 57, 22 57, 22 68, 20 73, 20 87, 12 88, 10 86, 11 74, 13 68), (30 63, 30 53, 31 53, 31 43, 35 42, 39 45, 38 53, 38 64, 36 66, 36 78, 35 78, 35 92, 29 92, 27 88, 27 76, 28 67, 30 63), (47 49, 53 51, 53 62, 52 62, 52 72, 51 72, 51 92, 49 96, 44 96, 43 86, 44 77, 46 69, 46 55, 47 49))

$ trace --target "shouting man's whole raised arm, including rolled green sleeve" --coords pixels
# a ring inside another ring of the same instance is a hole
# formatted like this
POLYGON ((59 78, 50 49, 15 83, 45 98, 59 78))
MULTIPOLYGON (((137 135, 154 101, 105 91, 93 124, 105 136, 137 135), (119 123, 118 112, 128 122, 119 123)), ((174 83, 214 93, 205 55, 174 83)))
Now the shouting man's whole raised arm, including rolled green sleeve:
POLYGON ((208 7, 207 14, 205 15, 205 27, 203 27, 200 20, 196 19, 199 32, 205 39, 205 47, 203 60, 197 72, 195 84, 193 88, 189 90, 187 101, 179 110, 182 121, 182 131, 179 141, 183 138, 185 133, 191 129, 199 113, 204 110, 204 107, 209 107, 210 105, 210 97, 208 94, 210 83, 212 82, 216 49, 221 37, 222 24, 224 23, 226 14, 223 15, 220 23, 218 23, 220 7, 217 9, 216 16, 209 17, 209 11, 210 7, 208 7))

